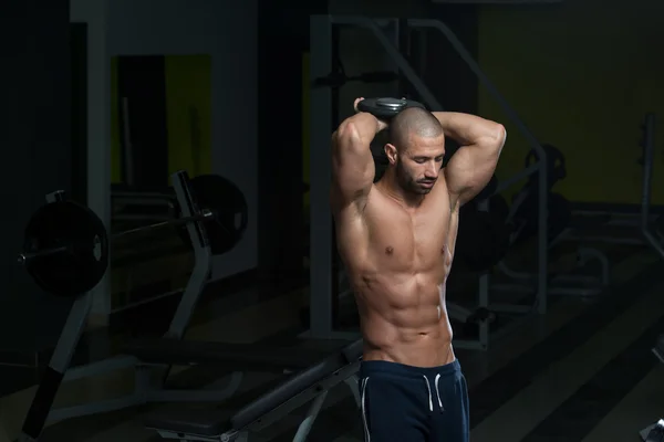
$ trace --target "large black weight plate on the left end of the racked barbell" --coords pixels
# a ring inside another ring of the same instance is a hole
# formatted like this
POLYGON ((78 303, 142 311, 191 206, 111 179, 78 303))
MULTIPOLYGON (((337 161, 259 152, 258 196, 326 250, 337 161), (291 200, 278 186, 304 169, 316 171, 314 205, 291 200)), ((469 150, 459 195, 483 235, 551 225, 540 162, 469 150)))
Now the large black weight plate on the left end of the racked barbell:
POLYGON ((108 239, 100 218, 72 201, 40 208, 25 228, 24 252, 66 246, 64 253, 31 260, 25 266, 48 293, 75 297, 94 288, 108 266, 108 239))

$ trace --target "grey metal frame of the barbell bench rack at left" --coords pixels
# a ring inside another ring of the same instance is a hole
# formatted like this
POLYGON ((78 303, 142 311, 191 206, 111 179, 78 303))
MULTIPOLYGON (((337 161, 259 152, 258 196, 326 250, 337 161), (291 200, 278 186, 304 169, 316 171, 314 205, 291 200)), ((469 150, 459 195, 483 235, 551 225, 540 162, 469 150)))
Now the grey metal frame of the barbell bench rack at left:
MULTIPOLYGON (((194 197, 188 188, 186 172, 173 175, 173 185, 179 202, 183 217, 193 217, 196 208, 194 197)), ((46 201, 62 200, 62 192, 46 197, 46 201)), ((170 323, 166 336, 173 339, 181 339, 187 324, 191 318, 196 303, 203 292, 210 272, 211 251, 205 227, 201 221, 190 221, 187 231, 194 248, 194 269, 191 276, 185 287, 181 301, 170 323)), ((239 387, 242 378, 241 372, 230 375, 227 388, 218 391, 177 390, 167 391, 160 387, 154 387, 151 382, 151 371, 154 365, 143 364, 134 356, 117 356, 86 366, 70 368, 72 356, 81 339, 86 325, 87 315, 92 305, 92 294, 86 293, 79 296, 66 318, 53 356, 45 369, 39 385, 32 404, 28 411, 19 438, 21 442, 37 441, 46 423, 61 421, 69 418, 95 414, 106 411, 120 410, 132 406, 153 401, 221 401, 229 398, 239 387), (84 403, 74 407, 52 409, 58 390, 63 381, 89 378, 112 371, 134 368, 135 388, 127 397, 96 402, 84 403)), ((163 366, 167 367, 167 366, 163 366)))

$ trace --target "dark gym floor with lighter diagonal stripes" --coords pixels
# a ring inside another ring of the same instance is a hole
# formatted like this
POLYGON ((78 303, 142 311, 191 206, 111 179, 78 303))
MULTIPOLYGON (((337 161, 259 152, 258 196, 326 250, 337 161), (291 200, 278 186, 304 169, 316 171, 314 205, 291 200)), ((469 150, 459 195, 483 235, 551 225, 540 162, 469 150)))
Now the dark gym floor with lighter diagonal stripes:
MULTIPOLYGON (((664 367, 650 351, 657 334, 664 332, 663 270, 652 254, 634 254, 613 266, 612 288, 598 299, 558 298, 546 316, 533 317, 488 351, 457 350, 470 390, 471 440, 637 441, 642 428, 664 415, 664 367)), ((288 341, 301 345, 303 351, 323 346, 297 338, 298 312, 305 298, 301 294, 258 297, 260 302, 253 304, 247 304, 247 296, 252 295, 226 297, 224 303, 241 307, 229 307, 226 311, 231 313, 196 325, 188 338, 288 341)), ((203 387, 222 375, 221 368, 197 367, 175 371, 172 380, 203 387)), ((246 373, 240 392, 219 409, 220 415, 230 415, 277 377, 246 373)), ((107 398, 131 388, 131 379, 120 373, 81 381, 62 388, 58 401, 107 398)), ((34 388, 28 388, 0 399, 0 442, 18 436, 33 393, 34 388)), ((142 418, 156 409, 178 407, 183 406, 141 407, 68 420, 50 425, 40 440, 156 442, 160 439, 143 428, 142 418)), ((300 415, 286 417, 253 440, 292 440, 300 415)), ((343 386, 330 393, 309 440, 361 441, 362 433, 354 400, 343 386)))

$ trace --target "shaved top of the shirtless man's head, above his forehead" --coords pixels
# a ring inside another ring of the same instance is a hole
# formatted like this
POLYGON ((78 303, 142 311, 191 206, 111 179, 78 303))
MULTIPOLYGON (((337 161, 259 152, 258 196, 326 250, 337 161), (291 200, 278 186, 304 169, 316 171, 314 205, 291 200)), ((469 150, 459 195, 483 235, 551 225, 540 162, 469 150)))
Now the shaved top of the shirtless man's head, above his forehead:
POLYGON ((412 137, 438 138, 443 135, 443 126, 428 110, 421 107, 408 107, 400 112, 390 122, 390 141, 398 149, 407 148, 412 137))

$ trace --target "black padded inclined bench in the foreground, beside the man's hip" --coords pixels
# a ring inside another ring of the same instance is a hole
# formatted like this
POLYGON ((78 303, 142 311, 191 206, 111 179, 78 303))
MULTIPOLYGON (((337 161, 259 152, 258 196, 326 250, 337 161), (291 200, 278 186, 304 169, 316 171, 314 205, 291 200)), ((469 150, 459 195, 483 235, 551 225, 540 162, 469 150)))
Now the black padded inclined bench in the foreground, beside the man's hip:
POLYGON ((144 424, 164 439, 204 442, 248 442, 249 433, 283 419, 311 402, 298 427, 294 442, 305 441, 321 411, 328 392, 346 382, 357 407, 361 404, 356 372, 362 357, 362 339, 320 362, 293 375, 272 390, 245 406, 230 419, 218 410, 169 410, 146 417, 144 424))

